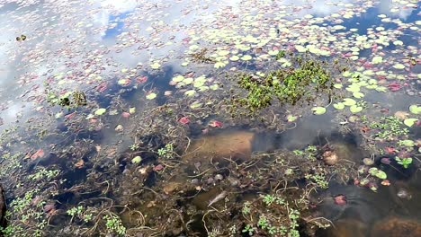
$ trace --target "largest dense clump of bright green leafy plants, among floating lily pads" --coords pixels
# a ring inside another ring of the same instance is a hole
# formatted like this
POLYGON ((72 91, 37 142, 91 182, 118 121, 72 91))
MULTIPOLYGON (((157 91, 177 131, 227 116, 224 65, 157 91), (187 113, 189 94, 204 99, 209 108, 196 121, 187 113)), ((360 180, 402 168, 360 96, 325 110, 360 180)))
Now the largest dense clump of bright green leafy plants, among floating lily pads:
POLYGON ((288 68, 280 66, 263 76, 240 73, 236 77, 237 84, 240 89, 246 90, 246 96, 233 95, 231 101, 235 106, 254 113, 272 105, 275 98, 281 104, 291 105, 299 101, 313 101, 319 93, 328 94, 330 98, 334 80, 327 67, 327 62, 323 60, 293 56, 288 68))

